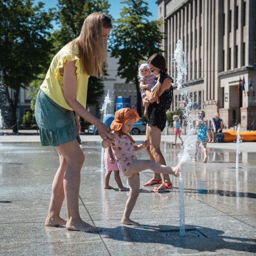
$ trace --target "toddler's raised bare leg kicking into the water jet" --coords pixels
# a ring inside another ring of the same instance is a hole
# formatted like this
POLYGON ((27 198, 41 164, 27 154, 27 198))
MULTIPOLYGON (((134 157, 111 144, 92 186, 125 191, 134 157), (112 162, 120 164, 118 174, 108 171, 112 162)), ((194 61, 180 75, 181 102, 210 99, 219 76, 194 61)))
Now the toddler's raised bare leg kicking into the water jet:
POLYGON ((180 167, 180 164, 177 164, 175 167, 170 167, 151 160, 134 160, 125 174, 132 175, 140 173, 142 170, 151 169, 155 173, 172 174, 173 176, 178 177, 180 167))

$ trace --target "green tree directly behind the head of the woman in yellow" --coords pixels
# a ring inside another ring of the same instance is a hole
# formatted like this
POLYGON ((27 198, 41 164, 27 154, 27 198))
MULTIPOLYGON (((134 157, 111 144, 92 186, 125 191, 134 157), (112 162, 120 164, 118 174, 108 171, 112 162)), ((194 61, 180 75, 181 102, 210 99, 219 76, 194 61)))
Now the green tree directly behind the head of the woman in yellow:
MULTIPOLYGON (((93 12, 108 14, 106 0, 58 0, 56 21, 60 29, 52 34, 56 52, 79 36, 84 19, 93 12)), ((103 80, 91 76, 88 83, 87 105, 96 105, 104 93, 103 80)))

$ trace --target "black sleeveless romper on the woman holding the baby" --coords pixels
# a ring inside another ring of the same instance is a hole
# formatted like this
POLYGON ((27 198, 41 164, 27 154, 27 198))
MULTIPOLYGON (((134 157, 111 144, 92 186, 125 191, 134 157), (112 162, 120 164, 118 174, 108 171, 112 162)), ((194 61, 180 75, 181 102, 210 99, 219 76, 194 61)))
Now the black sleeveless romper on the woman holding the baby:
POLYGON ((171 86, 168 90, 164 91, 159 99, 159 104, 153 102, 148 106, 148 125, 157 126, 162 132, 166 123, 165 112, 170 108, 170 104, 173 101, 173 87, 171 86))

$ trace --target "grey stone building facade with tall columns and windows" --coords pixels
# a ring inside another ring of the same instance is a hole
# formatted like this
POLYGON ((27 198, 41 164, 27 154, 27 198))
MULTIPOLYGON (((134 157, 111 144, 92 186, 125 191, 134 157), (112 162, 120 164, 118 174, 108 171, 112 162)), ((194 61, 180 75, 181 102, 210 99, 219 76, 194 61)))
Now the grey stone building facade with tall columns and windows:
POLYGON ((176 78, 172 61, 181 39, 187 56, 184 88, 174 91, 170 110, 182 106, 181 92, 189 91, 196 107, 210 120, 219 112, 225 126, 241 123, 256 127, 256 1, 255 0, 158 0, 158 17, 168 72, 176 78), (239 81, 245 90, 239 92, 239 81), (249 88, 249 77, 252 87, 249 88))

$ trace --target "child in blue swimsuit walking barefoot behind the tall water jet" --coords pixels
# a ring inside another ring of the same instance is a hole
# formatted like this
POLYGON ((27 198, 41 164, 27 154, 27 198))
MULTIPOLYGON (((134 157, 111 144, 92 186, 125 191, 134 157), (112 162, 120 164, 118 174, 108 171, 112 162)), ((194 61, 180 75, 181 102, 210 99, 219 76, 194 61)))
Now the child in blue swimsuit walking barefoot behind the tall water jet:
POLYGON ((195 151, 195 158, 194 161, 197 161, 197 152, 199 149, 199 145, 200 142, 202 142, 202 146, 203 146, 203 151, 204 151, 204 160, 203 163, 207 163, 207 141, 208 141, 208 137, 207 137, 207 125, 206 122, 204 121, 204 117, 205 117, 205 112, 204 111, 200 111, 198 113, 198 119, 196 121, 196 126, 197 126, 197 141, 196 141, 196 151, 195 151))

